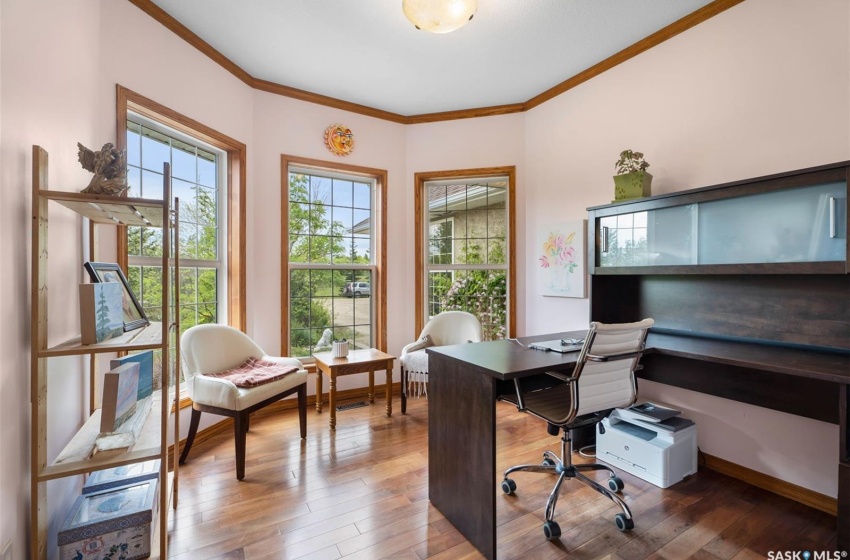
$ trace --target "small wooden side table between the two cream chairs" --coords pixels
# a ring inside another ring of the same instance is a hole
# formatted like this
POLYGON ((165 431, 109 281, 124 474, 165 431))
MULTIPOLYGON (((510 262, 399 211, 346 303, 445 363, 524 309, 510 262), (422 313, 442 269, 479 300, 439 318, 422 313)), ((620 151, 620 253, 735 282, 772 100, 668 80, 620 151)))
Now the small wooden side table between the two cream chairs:
POLYGON ((387 372, 387 416, 393 415, 393 361, 395 356, 375 348, 351 350, 345 358, 334 358, 331 352, 313 354, 316 359, 316 412, 322 412, 322 374, 328 375, 328 407, 331 409, 331 430, 336 429, 336 378, 353 373, 369 374, 369 402, 375 402, 375 370, 387 372))

